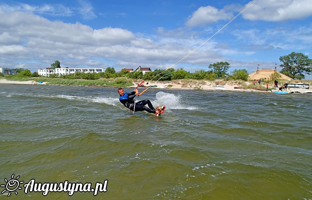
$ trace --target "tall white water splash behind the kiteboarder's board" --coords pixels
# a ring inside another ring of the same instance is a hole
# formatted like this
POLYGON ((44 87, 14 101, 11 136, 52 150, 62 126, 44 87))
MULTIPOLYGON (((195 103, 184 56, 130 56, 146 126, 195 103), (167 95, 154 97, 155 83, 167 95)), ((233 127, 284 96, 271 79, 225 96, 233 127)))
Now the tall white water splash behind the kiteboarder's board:
POLYGON ((157 92, 156 99, 152 103, 154 106, 165 105, 166 109, 188 109, 188 110, 197 109, 194 106, 190 106, 185 103, 182 103, 180 96, 176 96, 174 94, 166 93, 166 92, 157 92))

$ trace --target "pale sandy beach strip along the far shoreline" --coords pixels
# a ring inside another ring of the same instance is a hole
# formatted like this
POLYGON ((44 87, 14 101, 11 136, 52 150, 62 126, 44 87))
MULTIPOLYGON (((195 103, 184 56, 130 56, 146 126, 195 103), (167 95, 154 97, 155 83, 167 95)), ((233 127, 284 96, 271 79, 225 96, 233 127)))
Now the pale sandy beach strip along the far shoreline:
MULTIPOLYGON (((274 93, 274 91, 262 91, 256 89, 234 89, 234 87, 242 87, 242 84, 248 84, 248 81, 191 81, 183 83, 181 80, 174 80, 174 81, 161 81, 158 82, 157 87, 151 87, 153 89, 174 89, 174 90, 202 90, 202 91, 243 91, 243 92, 265 92, 265 93, 274 93), (216 88, 217 85, 222 87, 216 88)), ((84 85, 65 85, 65 84, 47 84, 46 82, 37 83, 36 81, 9 81, 6 79, 0 79, 0 84, 19 84, 19 85, 57 85, 57 86, 84 86, 84 85)), ((132 86, 124 86, 124 88, 135 88, 138 83, 133 83, 132 86)), ((89 87, 118 87, 118 86, 89 86, 89 87)), ((141 89, 145 89, 147 87, 139 87, 141 89)), ((272 87, 271 87, 272 88, 272 87)), ((266 89, 266 87, 263 87, 266 89)), ((276 88, 278 90, 278 87, 276 88)), ((312 89, 303 89, 303 88, 291 88, 291 91, 296 91, 294 93, 298 94, 309 94, 305 93, 305 91, 312 92, 312 89)))

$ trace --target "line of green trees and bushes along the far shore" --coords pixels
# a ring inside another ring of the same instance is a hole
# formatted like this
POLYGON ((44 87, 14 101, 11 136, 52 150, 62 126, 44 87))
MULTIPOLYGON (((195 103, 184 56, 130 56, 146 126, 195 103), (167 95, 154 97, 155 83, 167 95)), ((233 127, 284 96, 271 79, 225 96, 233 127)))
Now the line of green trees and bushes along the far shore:
MULTIPOLYGON (((312 72, 312 59, 308 58, 307 55, 303 53, 292 52, 289 55, 280 56, 280 62, 282 63, 280 67, 282 70, 280 73, 285 74, 293 79, 304 79, 304 74, 311 74, 312 72)), ((60 62, 56 60, 51 64, 51 69, 60 68, 60 62)), ((67 67, 68 68, 68 67, 67 67)), ((143 74, 142 71, 129 72, 127 70, 122 70, 121 72, 116 72, 114 67, 107 67, 105 72, 100 73, 83 73, 75 72, 70 75, 59 75, 51 74, 50 78, 65 78, 65 79, 86 79, 86 80, 96 80, 99 78, 117 78, 117 77, 127 77, 131 79, 143 79, 151 80, 155 77, 156 80, 160 81, 170 81, 176 79, 196 79, 196 80, 215 80, 215 79, 228 79, 228 80, 244 80, 249 79, 249 74, 246 69, 235 69, 232 72, 228 72, 230 69, 230 64, 228 62, 218 62, 213 63, 208 66, 208 70, 199 70, 195 72, 187 72, 180 68, 174 70, 170 68, 168 70, 156 69, 155 71, 146 72, 143 74)), ((31 73, 28 69, 23 68, 14 69, 20 75, 27 77, 37 77, 39 76, 36 72, 31 73)), ((281 76, 277 72, 270 76, 272 80, 278 80, 281 76)))

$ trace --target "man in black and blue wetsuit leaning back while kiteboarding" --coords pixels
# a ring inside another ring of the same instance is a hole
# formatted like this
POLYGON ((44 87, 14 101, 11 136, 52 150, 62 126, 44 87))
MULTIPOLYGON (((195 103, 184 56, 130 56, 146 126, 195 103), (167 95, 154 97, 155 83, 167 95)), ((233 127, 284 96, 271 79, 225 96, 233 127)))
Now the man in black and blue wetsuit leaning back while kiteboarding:
POLYGON ((134 111, 147 111, 149 113, 154 113, 156 116, 159 115, 159 110, 158 109, 154 109, 152 103, 150 102, 150 100, 146 99, 146 100, 141 100, 138 102, 135 102, 134 97, 136 95, 139 95, 139 91, 138 89, 135 89, 133 92, 129 92, 129 93, 124 93, 124 90, 119 87, 118 88, 118 93, 119 93, 119 101, 126 107, 129 108, 130 110, 134 110, 134 111), (134 102, 135 102, 135 109, 134 109, 134 102), (148 107, 146 107, 145 105, 148 105, 148 107))

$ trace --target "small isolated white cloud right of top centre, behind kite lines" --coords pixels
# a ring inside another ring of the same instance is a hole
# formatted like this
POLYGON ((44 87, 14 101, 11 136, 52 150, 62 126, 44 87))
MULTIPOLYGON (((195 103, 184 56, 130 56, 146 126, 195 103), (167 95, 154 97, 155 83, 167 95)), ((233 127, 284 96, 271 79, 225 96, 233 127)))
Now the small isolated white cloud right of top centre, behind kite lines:
POLYGON ((204 26, 219 20, 229 20, 232 17, 232 12, 229 12, 227 9, 218 10, 216 7, 212 6, 200 7, 197 11, 193 12, 191 16, 189 16, 185 26, 190 28, 195 26, 204 26))

